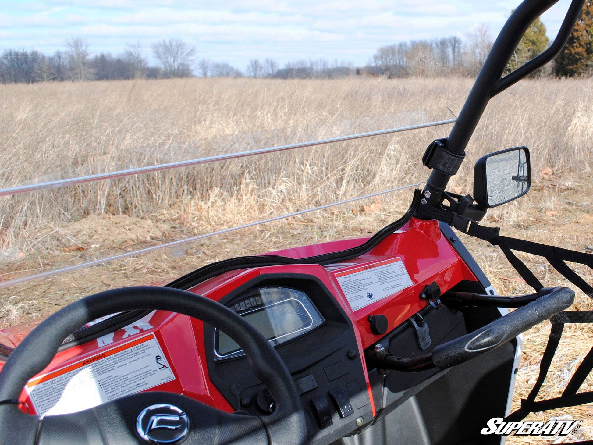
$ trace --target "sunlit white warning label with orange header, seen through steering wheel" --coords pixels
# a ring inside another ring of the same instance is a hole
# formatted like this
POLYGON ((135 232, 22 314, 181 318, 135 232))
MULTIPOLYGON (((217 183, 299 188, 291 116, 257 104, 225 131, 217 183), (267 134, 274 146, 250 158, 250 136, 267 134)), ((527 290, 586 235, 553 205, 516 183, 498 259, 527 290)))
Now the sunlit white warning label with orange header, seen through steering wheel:
POLYGON ((154 333, 29 380, 39 415, 93 408, 175 380, 154 333))

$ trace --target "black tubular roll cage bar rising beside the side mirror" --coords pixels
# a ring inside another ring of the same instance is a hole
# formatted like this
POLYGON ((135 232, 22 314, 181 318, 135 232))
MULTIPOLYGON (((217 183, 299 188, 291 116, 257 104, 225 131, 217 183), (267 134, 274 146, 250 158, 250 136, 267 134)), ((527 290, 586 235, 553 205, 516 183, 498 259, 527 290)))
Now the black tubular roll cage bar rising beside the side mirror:
MULTIPOLYGON (((515 49, 521 42, 525 31, 531 26, 531 23, 543 12, 547 11, 558 0, 524 0, 512 12, 505 25, 500 30, 498 37, 490 50, 480 73, 467 96, 466 103, 461 109, 457 122, 451 129, 447 139, 440 139, 445 144, 447 151, 464 155, 468 141, 471 138, 477 123, 482 117, 488 101, 506 90, 506 88, 517 83, 519 80, 527 77, 538 68, 550 62, 562 48, 566 45, 573 26, 581 14, 581 9, 585 0, 572 0, 566 16, 562 21, 562 26, 551 45, 540 55, 531 59, 529 62, 515 69, 505 77, 502 74, 508 65, 509 60, 515 49)), ((426 204, 441 208, 444 199, 445 187, 452 175, 442 173, 436 169, 431 171, 431 175, 426 182, 423 190, 423 196, 426 204), (427 193, 428 192, 428 193, 427 193)))

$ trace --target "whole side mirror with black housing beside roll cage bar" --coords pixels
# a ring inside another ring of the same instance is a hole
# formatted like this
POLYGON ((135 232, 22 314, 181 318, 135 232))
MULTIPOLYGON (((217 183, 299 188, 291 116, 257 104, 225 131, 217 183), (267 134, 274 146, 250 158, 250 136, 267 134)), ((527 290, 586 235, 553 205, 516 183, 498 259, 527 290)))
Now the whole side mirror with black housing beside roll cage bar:
POLYGON ((476 162, 474 199, 481 209, 520 198, 530 187, 531 162, 527 147, 490 153, 476 162))

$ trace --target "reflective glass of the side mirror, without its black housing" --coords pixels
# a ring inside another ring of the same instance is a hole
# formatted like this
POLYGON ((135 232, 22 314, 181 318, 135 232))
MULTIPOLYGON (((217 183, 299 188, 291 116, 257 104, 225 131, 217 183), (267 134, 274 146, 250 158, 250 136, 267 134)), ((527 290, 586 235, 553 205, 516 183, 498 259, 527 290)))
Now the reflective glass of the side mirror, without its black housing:
POLYGON ((530 166, 525 148, 495 153, 486 159, 488 206, 494 207, 527 193, 530 166))

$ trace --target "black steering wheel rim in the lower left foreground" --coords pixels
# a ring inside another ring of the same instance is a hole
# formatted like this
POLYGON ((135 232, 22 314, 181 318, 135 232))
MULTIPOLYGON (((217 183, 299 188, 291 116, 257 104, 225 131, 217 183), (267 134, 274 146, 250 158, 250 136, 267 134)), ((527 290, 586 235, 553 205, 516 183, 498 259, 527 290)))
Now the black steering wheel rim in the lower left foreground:
MULTIPOLYGON (((257 329, 227 307, 201 295, 175 288, 138 286, 112 289, 82 298, 52 314, 31 331, 8 358, 0 372, 0 400, 18 399, 27 381, 49 365, 63 339, 74 330, 100 317, 134 309, 172 311, 195 317, 224 330, 243 348, 251 370, 267 386, 276 401, 276 410, 273 414, 259 417, 266 430, 268 442, 306 443, 307 428, 301 400, 291 374, 278 352, 257 329)), ((127 402, 133 402, 135 398, 146 399, 147 394, 150 393, 136 393, 117 400, 126 399, 127 402)), ((173 396, 203 405, 185 396, 171 394, 171 397, 173 396)), ((100 406, 109 403, 113 402, 100 406)), ((247 419, 251 419, 250 422, 254 419, 253 416, 229 415, 219 410, 215 411, 221 416, 222 414, 233 416, 237 422, 241 422, 241 419, 237 418, 246 419, 244 422, 247 422, 247 419)), ((68 419, 76 414, 78 413, 49 416, 46 419, 53 418, 55 421, 56 418, 63 418, 64 422, 68 423, 68 419)), ((2 443, 12 443, 9 437, 2 436, 9 434, 7 427, 17 418, 20 419, 19 423, 23 421, 19 429, 33 428, 31 418, 36 419, 34 423, 38 429, 39 422, 43 422, 39 416, 24 414, 14 404, 0 405, 0 441, 2 443)), ((14 424, 12 429, 14 430, 14 424)), ((33 437, 35 437, 33 443, 36 443, 37 434, 33 437)), ((138 436, 136 438, 138 443, 145 443, 138 436)), ((203 440, 203 437, 201 439, 203 440)))

